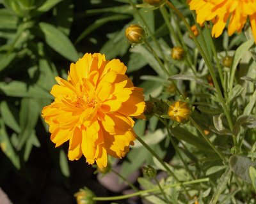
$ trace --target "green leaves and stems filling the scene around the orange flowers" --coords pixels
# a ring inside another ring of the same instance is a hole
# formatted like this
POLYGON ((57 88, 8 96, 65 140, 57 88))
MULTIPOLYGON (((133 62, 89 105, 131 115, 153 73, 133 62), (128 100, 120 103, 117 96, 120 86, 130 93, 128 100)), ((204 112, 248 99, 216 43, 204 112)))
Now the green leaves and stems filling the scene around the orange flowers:
MULTIPOLYGON (((170 2, 189 26, 195 24, 195 13, 191 14, 186 1, 170 2)), ((136 120, 134 131, 159 158, 136 140, 120 170, 124 178, 141 171, 142 166, 151 165, 157 170, 159 184, 138 178, 142 189, 157 189, 141 194, 142 200, 254 203, 256 48, 250 31, 233 36, 223 31, 220 38, 212 39, 212 23, 205 22, 204 27, 198 27, 197 45, 172 9, 164 5, 152 10, 141 3, 0 1, 2 152, 12 168, 26 170, 33 149, 41 148, 40 136, 44 135, 52 163, 70 177, 67 149, 52 150, 41 110, 52 102, 49 92, 56 84, 54 77, 67 77, 70 62, 76 62, 85 52, 101 52, 107 59, 124 62, 127 75, 134 85, 144 89, 145 100, 154 106, 147 120, 136 120), (145 29, 145 43, 131 46, 125 39, 125 29, 131 24, 145 29), (183 60, 172 59, 174 46, 184 48, 183 60), (233 59, 230 68, 221 64, 226 55, 233 59), (195 108, 190 122, 174 123, 166 101, 173 103, 187 97, 195 108), (180 184, 199 179, 207 181, 180 184), (161 187, 168 185, 176 186, 162 192, 161 187)), ((111 163, 118 161, 111 159, 111 163)))

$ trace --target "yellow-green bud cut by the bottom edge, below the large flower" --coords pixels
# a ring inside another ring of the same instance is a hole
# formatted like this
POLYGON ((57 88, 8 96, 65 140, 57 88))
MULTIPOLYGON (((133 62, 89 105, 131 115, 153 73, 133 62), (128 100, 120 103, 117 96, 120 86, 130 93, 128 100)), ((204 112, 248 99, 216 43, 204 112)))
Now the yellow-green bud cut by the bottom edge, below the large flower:
POLYGON ((95 201, 93 200, 93 197, 95 197, 95 194, 87 187, 80 189, 79 192, 74 194, 74 196, 76 197, 77 204, 95 203, 95 201))

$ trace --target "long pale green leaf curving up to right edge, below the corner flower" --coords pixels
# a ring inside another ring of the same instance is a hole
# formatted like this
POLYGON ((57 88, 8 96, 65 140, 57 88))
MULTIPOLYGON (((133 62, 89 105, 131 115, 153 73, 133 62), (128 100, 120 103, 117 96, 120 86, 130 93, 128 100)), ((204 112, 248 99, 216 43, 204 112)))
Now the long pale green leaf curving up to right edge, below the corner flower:
POLYGON ((246 51, 248 51, 250 49, 250 47, 252 47, 253 44, 254 44, 254 40, 251 39, 251 40, 244 42, 242 45, 240 45, 237 48, 236 53, 234 55, 232 68, 230 69, 230 81, 229 81, 229 89, 230 90, 232 90, 232 87, 233 87, 234 77, 235 77, 235 73, 236 73, 236 67, 239 64, 240 59, 243 57, 243 55, 246 53, 246 51))

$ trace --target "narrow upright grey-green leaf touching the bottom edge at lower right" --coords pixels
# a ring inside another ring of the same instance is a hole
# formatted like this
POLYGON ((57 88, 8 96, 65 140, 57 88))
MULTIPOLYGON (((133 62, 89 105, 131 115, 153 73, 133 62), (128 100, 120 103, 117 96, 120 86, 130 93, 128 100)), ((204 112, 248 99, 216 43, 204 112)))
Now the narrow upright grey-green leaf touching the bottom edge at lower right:
POLYGON ((217 201, 220 197, 220 194, 225 189, 227 189, 227 183, 228 183, 228 180, 230 179, 231 172, 232 171, 230 170, 230 168, 227 168, 227 170, 223 173, 223 175, 221 175, 220 180, 218 182, 217 189, 216 189, 214 195, 212 196, 212 199, 209 204, 217 203, 217 201))

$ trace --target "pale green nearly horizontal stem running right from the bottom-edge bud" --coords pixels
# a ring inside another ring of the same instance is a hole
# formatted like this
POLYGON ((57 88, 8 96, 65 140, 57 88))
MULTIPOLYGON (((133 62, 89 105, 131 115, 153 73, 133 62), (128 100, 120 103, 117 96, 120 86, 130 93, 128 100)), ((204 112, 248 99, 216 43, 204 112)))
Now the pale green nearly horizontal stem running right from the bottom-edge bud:
MULTIPOLYGON (((190 185, 190 184, 198 184, 198 183, 201 183, 201 182, 208 182, 208 181, 209 181, 209 178, 191 180, 191 181, 187 181, 187 182, 179 182, 177 184, 170 184, 170 185, 163 186, 162 189, 167 189, 167 188, 171 188, 171 187, 178 187, 178 186, 186 186, 186 185, 190 185)), ((93 200, 94 201, 123 200, 123 199, 126 199, 126 198, 131 198, 131 197, 134 197, 134 196, 140 196, 141 194, 151 193, 151 192, 155 192, 155 191, 159 191, 159 187, 155 187, 154 189, 147 189, 145 191, 139 191, 139 192, 136 192, 136 193, 126 194, 126 195, 123 195, 123 196, 94 197, 93 200)))

